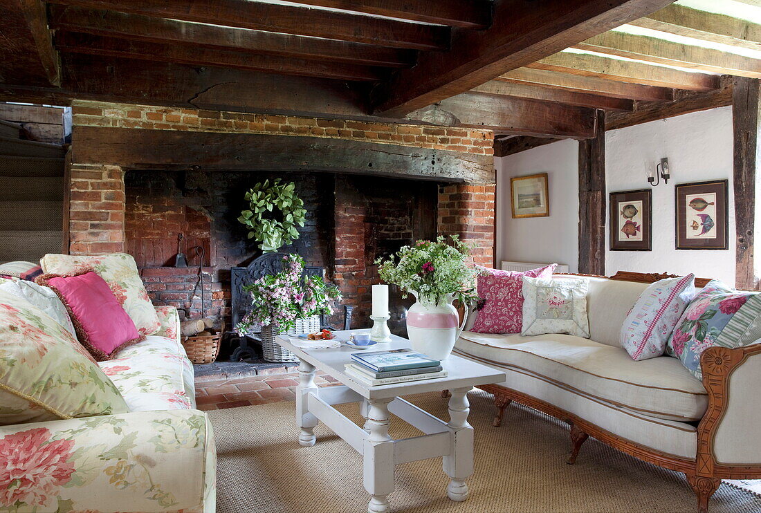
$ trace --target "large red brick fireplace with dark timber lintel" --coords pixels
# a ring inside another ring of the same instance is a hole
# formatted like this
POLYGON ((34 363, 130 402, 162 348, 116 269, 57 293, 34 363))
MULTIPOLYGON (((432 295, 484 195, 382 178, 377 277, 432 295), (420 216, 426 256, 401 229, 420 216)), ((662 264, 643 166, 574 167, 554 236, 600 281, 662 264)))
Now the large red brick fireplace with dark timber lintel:
POLYGON ((476 263, 494 263, 490 131, 91 102, 72 111, 69 251, 129 252, 154 303, 181 315, 229 315, 229 269, 259 254, 236 217, 265 178, 296 183, 307 223, 282 251, 326 269, 356 327, 367 324, 374 259, 401 245, 458 234, 476 263), (188 268, 174 268, 179 233, 188 268))

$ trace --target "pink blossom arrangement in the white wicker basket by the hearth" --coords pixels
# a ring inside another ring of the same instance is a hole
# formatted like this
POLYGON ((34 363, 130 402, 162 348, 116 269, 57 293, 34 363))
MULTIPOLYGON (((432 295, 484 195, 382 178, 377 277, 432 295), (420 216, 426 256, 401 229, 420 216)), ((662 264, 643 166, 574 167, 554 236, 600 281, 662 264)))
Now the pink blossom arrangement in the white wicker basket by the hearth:
POLYGON ((304 258, 287 255, 281 272, 244 287, 251 295, 252 308, 235 327, 237 333, 246 334, 254 325, 272 325, 284 333, 295 327, 296 319, 333 313, 333 302, 341 300, 341 292, 322 277, 303 277, 303 272, 304 258))

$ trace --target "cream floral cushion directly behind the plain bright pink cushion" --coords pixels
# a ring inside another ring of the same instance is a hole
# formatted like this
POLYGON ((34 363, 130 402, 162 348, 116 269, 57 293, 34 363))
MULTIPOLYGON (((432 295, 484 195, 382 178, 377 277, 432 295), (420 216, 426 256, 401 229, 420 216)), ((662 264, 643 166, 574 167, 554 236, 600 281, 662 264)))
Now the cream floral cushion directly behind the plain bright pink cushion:
POLYGON ((97 256, 49 254, 40 260, 40 264, 46 274, 72 276, 94 271, 106 280, 113 295, 119 300, 119 304, 135 322, 140 334, 154 334, 161 327, 132 255, 126 253, 97 256))

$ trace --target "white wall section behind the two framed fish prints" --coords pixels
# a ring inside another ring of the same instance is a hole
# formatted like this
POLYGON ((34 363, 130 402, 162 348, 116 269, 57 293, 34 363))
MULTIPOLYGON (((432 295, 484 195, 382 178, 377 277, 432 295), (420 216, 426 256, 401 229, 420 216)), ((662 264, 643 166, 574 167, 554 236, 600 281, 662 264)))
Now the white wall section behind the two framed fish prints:
MULTIPOLYGON (((671 172, 668 184, 661 182, 652 188, 653 250, 611 252, 607 240, 606 274, 693 272, 699 277, 720 278, 734 285, 731 107, 610 131, 605 138, 605 152, 608 192, 649 188, 645 169, 653 167, 661 157, 668 158, 671 172), (677 251, 674 185, 715 179, 729 180, 729 249, 677 251)), ((610 228, 607 237, 610 238, 610 228)))

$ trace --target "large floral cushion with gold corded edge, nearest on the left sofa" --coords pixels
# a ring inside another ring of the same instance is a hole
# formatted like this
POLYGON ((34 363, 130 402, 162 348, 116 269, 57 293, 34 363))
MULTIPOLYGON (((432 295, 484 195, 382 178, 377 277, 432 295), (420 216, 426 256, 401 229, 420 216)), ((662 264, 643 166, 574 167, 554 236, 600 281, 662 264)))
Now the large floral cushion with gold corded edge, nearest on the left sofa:
POLYGON ((0 291, 0 424, 128 411, 72 334, 40 309, 0 291))

